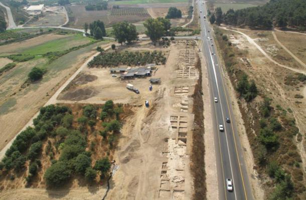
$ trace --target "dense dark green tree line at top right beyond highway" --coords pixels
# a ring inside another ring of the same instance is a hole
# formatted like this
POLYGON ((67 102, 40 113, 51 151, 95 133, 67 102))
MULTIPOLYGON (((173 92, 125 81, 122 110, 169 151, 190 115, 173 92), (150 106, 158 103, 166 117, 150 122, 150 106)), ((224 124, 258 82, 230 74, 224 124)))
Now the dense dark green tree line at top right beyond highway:
POLYGON ((216 8, 210 17, 212 24, 221 23, 232 26, 249 26, 253 29, 271 29, 273 26, 287 26, 301 31, 306 29, 306 1, 304 0, 270 0, 269 3, 252 8, 222 13, 216 8))

